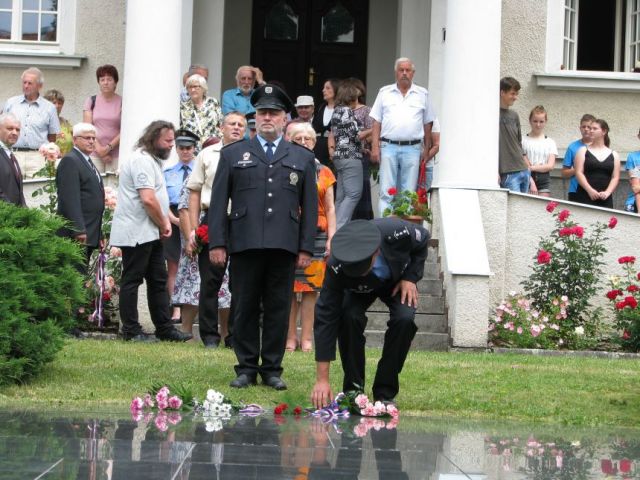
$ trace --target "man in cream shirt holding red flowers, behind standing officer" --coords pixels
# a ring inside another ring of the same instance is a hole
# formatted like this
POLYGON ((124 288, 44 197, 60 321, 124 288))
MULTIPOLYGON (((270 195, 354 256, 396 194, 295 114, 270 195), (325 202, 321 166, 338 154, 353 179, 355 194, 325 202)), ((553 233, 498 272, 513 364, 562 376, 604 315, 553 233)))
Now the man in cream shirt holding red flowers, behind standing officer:
MULTIPOLYGON (((198 225, 206 225, 207 223, 211 187, 220 161, 220 150, 226 145, 242 140, 246 126, 247 120, 242 113, 227 113, 222 121, 222 142, 205 148, 196 157, 193 172, 187 180, 187 188, 190 190, 189 217, 193 228, 190 244, 187 246, 188 252, 193 252, 196 247, 195 229, 198 225)), ((230 347, 232 332, 229 322, 229 308, 218 305, 218 291, 224 279, 225 267, 214 266, 209 261, 208 248, 203 248, 198 253, 198 267, 200 268, 198 304, 200 338, 205 348, 217 348, 221 338, 224 338, 225 344, 230 347), (220 330, 218 330, 218 315, 220 330)))

